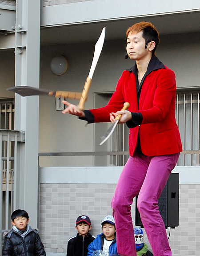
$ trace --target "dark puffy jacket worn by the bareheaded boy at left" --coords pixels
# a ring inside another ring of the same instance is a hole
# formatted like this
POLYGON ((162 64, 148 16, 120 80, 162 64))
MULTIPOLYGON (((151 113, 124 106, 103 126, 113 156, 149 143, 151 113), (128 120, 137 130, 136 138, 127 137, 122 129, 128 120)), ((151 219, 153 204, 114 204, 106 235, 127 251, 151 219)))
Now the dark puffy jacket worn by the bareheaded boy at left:
POLYGON ((2 256, 46 256, 46 253, 38 232, 30 227, 24 237, 13 229, 5 236, 2 256))

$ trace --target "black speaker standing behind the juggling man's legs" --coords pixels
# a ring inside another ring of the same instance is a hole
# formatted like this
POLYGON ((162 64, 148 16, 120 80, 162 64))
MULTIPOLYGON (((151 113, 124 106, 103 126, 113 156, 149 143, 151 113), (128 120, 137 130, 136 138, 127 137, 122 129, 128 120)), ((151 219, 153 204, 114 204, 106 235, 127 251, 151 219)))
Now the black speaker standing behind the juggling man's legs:
MULTIPOLYGON (((143 228, 140 213, 137 209, 136 196, 136 226, 143 228)), ((179 225, 179 173, 171 173, 163 192, 158 199, 160 215, 163 218, 165 228, 175 228, 179 225)))

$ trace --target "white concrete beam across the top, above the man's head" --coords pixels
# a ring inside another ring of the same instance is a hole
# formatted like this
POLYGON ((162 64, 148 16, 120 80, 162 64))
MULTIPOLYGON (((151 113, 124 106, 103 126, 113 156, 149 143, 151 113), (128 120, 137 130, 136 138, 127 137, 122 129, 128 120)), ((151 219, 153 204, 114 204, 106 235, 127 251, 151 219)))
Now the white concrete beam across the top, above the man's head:
POLYGON ((146 0, 43 0, 41 26, 77 24, 100 20, 124 19, 170 12, 194 11, 200 8, 193 1, 146 0))

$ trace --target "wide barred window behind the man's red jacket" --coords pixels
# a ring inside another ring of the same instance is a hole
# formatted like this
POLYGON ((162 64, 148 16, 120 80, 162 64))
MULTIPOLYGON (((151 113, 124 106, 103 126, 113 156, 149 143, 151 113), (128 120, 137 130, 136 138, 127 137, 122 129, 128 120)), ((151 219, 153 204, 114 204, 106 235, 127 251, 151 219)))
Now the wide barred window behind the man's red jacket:
MULTIPOLYGON (((106 105, 112 96, 112 92, 96 93, 95 108, 106 105)), ((192 151, 200 150, 200 90, 184 91, 177 89, 176 93, 176 122, 180 130, 183 150, 187 154, 181 154, 177 165, 192 166, 199 164, 200 154, 192 151), (191 152, 190 152, 191 151, 191 152), (198 159, 198 160, 197 160, 198 159)), ((110 127, 110 123, 94 124, 94 151, 128 151, 128 128, 126 125, 117 125, 113 135, 102 146, 99 146, 100 136, 104 135, 110 127)), ((94 156, 94 166, 123 166, 128 156, 94 156)))

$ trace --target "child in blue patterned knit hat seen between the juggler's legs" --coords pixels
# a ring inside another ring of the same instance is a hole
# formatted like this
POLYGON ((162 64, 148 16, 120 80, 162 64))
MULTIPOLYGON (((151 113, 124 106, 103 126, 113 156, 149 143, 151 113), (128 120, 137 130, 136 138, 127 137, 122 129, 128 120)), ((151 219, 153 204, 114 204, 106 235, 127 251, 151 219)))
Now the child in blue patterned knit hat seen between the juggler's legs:
POLYGON ((141 228, 134 228, 134 236, 137 256, 153 256, 152 252, 148 251, 147 244, 144 244, 144 234, 141 228))

